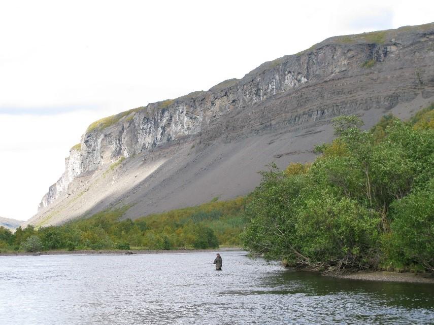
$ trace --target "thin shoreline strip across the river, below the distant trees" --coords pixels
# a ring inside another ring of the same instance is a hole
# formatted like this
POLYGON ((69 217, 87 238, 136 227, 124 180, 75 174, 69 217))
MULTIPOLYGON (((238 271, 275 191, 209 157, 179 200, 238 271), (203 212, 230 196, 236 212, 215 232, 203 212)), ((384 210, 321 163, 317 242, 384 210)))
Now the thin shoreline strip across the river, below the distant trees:
MULTIPOLYGON (((197 252, 220 252, 220 251, 238 251, 243 250, 240 247, 220 247, 210 249, 171 249, 171 250, 152 250, 152 249, 131 249, 131 250, 44 250, 40 255, 125 255, 128 251, 132 254, 182 254, 182 253, 197 253, 197 252)), ((33 252, 4 252, 0 256, 35 256, 39 255, 33 252)))

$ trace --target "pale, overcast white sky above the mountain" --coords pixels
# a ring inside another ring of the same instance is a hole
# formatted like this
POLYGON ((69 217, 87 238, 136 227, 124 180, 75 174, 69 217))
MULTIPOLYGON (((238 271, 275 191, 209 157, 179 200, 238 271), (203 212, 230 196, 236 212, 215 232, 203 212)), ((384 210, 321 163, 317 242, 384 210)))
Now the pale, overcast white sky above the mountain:
POLYGON ((417 0, 0 0, 0 216, 34 215, 97 119, 433 12, 417 0))

